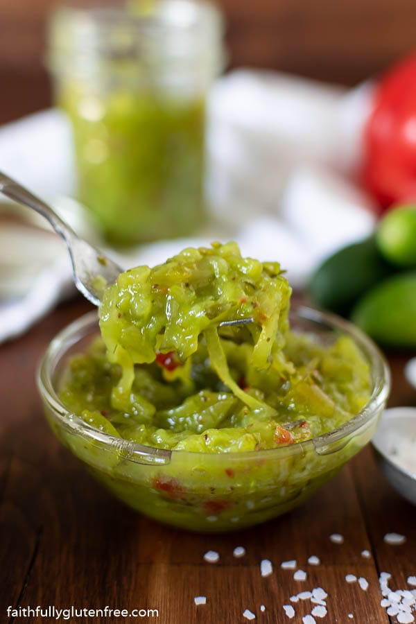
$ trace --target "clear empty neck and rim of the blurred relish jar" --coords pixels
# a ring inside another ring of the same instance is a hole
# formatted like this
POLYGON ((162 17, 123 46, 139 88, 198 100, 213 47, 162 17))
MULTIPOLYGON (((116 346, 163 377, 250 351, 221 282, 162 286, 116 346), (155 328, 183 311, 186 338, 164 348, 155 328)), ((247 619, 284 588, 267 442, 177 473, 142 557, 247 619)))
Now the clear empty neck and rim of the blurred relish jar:
POLYGON ((122 7, 55 10, 49 23, 46 65, 53 75, 80 78, 126 71, 130 63, 172 75, 200 71, 214 77, 225 65, 224 22, 205 0, 158 0, 152 12, 122 7))

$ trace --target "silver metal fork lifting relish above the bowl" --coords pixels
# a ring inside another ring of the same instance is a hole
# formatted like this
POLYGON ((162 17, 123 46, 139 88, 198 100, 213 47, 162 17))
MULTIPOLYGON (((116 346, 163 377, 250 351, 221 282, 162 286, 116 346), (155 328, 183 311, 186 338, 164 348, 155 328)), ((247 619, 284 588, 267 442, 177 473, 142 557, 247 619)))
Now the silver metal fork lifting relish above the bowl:
MULTIPOLYGON (((105 287, 116 281, 123 269, 101 251, 89 245, 87 241, 80 239, 73 229, 55 213, 51 206, 1 171, 0 193, 3 193, 3 195, 6 195, 6 197, 18 204, 23 204, 35 210, 49 221, 55 232, 62 236, 67 245, 69 257, 71 258, 73 281, 78 291, 94 306, 99 306, 105 287)), ((219 327, 242 325, 250 322, 253 322, 252 318, 234 319, 219 323, 219 327)))

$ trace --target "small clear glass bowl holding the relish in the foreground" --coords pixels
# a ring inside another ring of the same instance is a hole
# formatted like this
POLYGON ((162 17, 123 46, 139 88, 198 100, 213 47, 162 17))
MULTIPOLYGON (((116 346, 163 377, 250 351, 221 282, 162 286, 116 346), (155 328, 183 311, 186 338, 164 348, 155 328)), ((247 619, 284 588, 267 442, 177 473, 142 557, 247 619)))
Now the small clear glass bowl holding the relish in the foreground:
POLYGON ((166 451, 102 433, 62 405, 58 388, 67 358, 98 334, 96 312, 69 324, 49 345, 37 383, 59 440, 118 499, 146 516, 187 530, 243 528, 295 508, 360 451, 388 398, 390 374, 379 349, 360 330, 326 313, 300 307, 291 327, 320 340, 349 335, 370 364, 372 395, 363 410, 330 433, 266 451, 166 451))

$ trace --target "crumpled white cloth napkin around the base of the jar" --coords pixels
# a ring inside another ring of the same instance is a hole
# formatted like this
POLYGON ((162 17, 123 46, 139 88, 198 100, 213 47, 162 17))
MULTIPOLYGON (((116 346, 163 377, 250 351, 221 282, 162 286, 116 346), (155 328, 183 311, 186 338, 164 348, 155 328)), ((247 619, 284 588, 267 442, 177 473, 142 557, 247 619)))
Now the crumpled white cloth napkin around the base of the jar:
MULTIPOLYGON (((209 101, 211 225, 196 237, 143 245, 116 259, 125 268, 153 265, 189 245, 234 239, 243 254, 279 261, 291 284, 303 286, 327 254, 374 228, 372 201, 354 182, 371 93, 371 85, 347 92, 266 71, 221 78, 209 101)), ((78 204, 65 198, 75 193, 76 177, 71 128, 62 113, 48 110, 1 128, 0 170, 100 243, 78 204)), ((3 211, 10 210, 18 209, 3 203, 3 211)), ((19 214, 33 219, 29 211, 19 214)), ((1 343, 31 327, 74 287, 58 237, 42 227, 0 224, 1 343)))

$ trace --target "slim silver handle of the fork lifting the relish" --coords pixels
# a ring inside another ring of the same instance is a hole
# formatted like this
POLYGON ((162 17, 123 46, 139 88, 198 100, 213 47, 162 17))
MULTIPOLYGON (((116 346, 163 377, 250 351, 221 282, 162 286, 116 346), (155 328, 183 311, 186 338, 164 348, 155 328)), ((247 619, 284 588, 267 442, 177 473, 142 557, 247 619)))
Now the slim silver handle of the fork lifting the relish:
POLYGON ((45 202, 42 202, 40 198, 33 195, 33 193, 31 193, 24 187, 21 187, 18 182, 15 182, 15 180, 12 180, 10 177, 8 177, 8 175, 2 173, 1 171, 0 193, 3 193, 3 195, 6 195, 6 197, 19 204, 24 204, 25 206, 32 208, 37 213, 44 216, 44 218, 49 221, 55 232, 62 236, 62 239, 64 239, 65 243, 71 243, 71 239, 76 237, 73 229, 71 229, 69 225, 64 223, 50 206, 45 204, 45 202))

